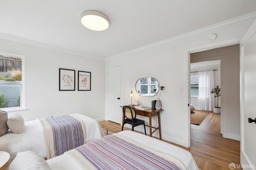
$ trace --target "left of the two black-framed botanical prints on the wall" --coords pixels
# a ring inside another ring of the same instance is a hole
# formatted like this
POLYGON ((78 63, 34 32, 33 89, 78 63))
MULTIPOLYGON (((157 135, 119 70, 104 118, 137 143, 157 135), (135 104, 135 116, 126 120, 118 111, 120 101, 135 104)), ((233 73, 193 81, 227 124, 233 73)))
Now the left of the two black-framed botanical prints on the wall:
POLYGON ((74 91, 75 70, 59 69, 59 91, 74 91))

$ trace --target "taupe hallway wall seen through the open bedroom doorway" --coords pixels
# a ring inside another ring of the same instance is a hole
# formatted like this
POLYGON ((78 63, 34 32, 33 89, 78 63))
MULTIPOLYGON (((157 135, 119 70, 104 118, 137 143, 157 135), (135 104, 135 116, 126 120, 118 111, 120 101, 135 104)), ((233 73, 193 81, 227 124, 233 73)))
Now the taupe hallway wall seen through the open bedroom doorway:
MULTIPOLYGON (((220 133, 224 138, 240 140, 240 129, 239 129, 240 127, 240 72, 239 72, 240 50, 239 50, 239 45, 230 45, 226 47, 220 47, 220 48, 194 52, 194 53, 191 51, 189 55, 190 55, 189 63, 199 63, 204 61, 220 60, 220 69, 219 69, 220 70, 220 87, 221 87, 221 99, 219 101, 221 106, 221 113, 220 113, 220 118, 221 118, 220 131, 221 132, 220 133)), ((191 68, 191 72, 192 70, 193 69, 191 68)), ((190 103, 192 102, 193 102, 193 99, 191 100, 190 103)))

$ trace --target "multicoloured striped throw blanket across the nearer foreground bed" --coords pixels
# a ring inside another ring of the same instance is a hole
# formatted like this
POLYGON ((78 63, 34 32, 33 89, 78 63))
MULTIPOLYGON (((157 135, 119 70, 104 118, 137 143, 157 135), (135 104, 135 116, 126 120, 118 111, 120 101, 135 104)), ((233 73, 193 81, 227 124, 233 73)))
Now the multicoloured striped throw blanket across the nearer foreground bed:
MULTIPOLYGON (((100 170, 180 170, 173 162, 132 144, 117 135, 108 135, 75 148, 92 165, 100 170)), ((90 165, 90 166, 91 166, 90 165)), ((88 166, 87 166, 88 167, 88 166)))

